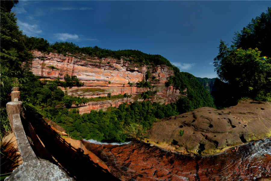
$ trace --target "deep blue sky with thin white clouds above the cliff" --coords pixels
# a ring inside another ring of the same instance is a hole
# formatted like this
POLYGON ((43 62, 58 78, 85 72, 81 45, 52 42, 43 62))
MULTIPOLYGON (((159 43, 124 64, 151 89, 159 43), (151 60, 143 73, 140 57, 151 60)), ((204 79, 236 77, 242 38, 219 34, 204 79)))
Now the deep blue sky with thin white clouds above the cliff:
POLYGON ((215 78, 220 39, 231 44, 271 1, 19 1, 23 34, 55 43, 159 54, 180 71, 215 78))

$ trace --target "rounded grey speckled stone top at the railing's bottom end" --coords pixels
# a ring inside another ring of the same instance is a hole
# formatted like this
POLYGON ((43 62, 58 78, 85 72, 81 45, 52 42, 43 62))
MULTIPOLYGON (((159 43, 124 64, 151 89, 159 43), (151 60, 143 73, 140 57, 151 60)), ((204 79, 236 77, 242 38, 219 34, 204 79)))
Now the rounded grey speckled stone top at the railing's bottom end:
POLYGON ((38 159, 23 163, 5 179, 9 180, 74 180, 64 170, 52 164, 48 160, 38 159))

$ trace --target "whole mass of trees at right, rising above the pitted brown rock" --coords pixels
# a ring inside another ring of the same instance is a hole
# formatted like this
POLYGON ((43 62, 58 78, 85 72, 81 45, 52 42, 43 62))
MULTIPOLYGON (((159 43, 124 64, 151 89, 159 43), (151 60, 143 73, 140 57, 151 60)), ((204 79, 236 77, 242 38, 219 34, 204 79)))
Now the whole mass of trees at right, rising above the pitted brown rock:
POLYGON ((270 25, 269 7, 266 13, 252 19, 241 33, 235 34, 232 46, 220 40, 214 66, 223 82, 217 80, 212 93, 220 106, 233 104, 241 97, 271 101, 270 25))

